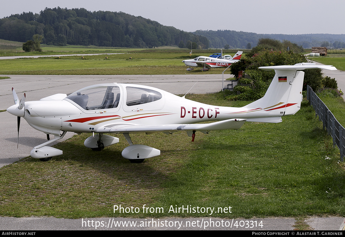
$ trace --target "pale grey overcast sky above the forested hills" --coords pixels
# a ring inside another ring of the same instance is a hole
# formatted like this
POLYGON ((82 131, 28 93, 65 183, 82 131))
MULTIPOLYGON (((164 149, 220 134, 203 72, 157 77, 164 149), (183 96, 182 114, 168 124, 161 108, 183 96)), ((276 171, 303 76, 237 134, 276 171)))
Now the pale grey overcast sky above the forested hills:
POLYGON ((184 31, 345 34, 344 0, 12 0, 1 1, 0 18, 46 7, 122 11, 184 31))

